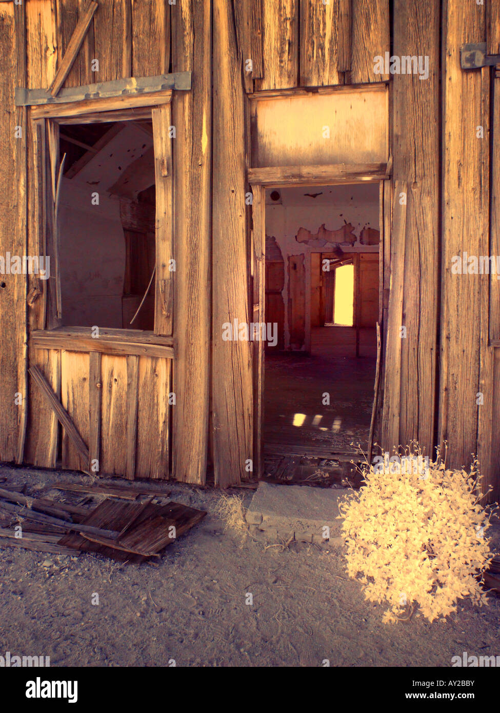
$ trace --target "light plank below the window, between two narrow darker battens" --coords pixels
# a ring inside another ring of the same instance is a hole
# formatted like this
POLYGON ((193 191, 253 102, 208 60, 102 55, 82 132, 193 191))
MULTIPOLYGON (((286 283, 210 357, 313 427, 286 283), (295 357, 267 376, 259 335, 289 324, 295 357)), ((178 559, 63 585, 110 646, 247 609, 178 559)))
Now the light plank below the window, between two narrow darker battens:
POLYGON ((127 357, 103 354, 101 475, 123 476, 127 450, 127 357))

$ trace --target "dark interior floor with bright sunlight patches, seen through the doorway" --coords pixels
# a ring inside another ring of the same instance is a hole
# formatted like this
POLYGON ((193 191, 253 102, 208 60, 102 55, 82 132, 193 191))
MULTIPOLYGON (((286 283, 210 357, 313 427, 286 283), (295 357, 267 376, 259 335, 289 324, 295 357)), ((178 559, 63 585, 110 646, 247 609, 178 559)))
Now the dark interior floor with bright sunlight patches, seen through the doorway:
POLYGON ((266 453, 332 458, 367 447, 377 340, 360 330, 355 356, 352 327, 312 330, 311 353, 265 355, 266 453), (323 394, 330 404, 323 404, 323 394))

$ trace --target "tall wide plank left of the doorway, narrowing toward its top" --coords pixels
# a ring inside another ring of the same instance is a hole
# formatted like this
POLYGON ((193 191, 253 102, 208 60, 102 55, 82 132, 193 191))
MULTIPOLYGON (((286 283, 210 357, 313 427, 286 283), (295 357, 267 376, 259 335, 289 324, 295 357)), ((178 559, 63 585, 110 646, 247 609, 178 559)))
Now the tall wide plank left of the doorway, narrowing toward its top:
POLYGON ((223 340, 223 325, 235 319, 249 322, 250 310, 245 287, 243 87, 230 1, 215 0, 213 7, 214 114, 218 116, 213 127, 213 457, 215 483, 225 487, 248 478, 252 361, 248 341, 223 340))

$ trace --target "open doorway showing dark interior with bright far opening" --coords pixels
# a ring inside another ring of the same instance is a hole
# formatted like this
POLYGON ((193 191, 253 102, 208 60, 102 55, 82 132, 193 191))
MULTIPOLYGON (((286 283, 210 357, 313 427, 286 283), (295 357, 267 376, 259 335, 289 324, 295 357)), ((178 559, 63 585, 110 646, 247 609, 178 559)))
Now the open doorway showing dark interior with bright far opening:
POLYGON ((265 200, 265 474, 357 481, 379 319, 379 183, 268 189, 265 200))

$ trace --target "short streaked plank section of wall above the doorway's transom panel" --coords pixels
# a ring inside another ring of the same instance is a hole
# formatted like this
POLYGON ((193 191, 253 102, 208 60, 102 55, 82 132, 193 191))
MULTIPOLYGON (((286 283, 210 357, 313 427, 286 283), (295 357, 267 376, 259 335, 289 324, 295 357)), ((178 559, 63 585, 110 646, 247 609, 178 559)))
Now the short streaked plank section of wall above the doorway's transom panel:
POLYGON ((374 73, 374 57, 389 51, 389 0, 253 0, 246 15, 244 0, 234 4, 255 91, 388 78, 374 73))

